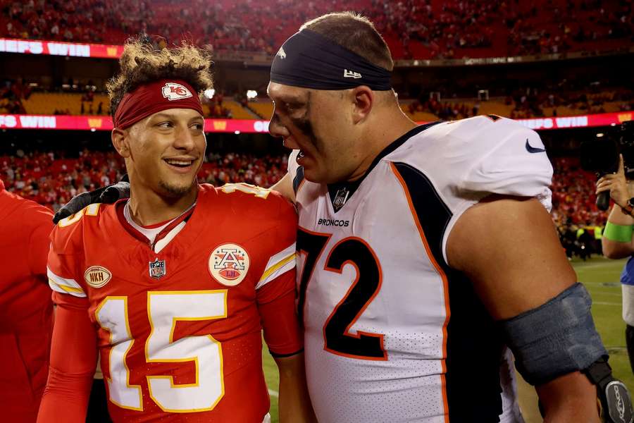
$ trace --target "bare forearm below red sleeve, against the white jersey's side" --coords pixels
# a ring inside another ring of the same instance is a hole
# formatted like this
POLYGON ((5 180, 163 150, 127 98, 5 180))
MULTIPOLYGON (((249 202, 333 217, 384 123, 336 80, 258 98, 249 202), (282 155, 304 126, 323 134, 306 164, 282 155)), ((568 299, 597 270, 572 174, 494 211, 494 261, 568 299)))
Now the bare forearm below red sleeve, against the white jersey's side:
POLYGON ((304 355, 276 358, 280 369, 280 423, 317 422, 306 387, 304 355))

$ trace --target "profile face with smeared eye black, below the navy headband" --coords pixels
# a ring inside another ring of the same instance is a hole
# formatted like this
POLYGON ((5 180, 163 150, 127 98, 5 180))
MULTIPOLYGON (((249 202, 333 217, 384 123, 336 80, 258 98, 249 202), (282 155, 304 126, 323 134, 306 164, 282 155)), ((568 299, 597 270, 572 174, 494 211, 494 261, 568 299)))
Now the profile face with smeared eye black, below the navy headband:
POLYGON ((269 132, 300 150, 297 163, 312 182, 340 182, 354 171, 356 143, 344 93, 268 84, 275 106, 269 132))

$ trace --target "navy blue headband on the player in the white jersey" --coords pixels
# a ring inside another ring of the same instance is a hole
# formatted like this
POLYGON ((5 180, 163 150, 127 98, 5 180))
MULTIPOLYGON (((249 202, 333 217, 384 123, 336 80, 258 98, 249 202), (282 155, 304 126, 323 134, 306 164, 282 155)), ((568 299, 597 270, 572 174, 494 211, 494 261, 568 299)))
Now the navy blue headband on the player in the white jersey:
POLYGON ((391 75, 387 69, 310 30, 287 39, 271 65, 271 82, 315 90, 348 90, 359 85, 375 91, 391 90, 391 75))

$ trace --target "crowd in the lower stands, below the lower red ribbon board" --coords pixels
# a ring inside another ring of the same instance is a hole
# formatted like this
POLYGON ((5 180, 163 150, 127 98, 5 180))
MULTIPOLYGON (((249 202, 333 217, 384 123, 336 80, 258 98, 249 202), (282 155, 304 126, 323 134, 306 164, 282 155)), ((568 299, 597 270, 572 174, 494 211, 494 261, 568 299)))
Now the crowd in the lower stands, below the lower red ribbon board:
MULTIPOLYGON (((557 226, 594 224, 602 226, 606 216, 595 205, 595 176, 581 170, 578 159, 552 160, 552 217, 557 226)), ((213 185, 246 182, 268 187, 286 171, 287 157, 255 157, 252 154, 209 153, 199 180, 213 185)), ((108 185, 123 176, 123 159, 116 152, 84 149, 77 157, 68 152, 18 150, 0 157, 0 178, 7 190, 57 210, 70 197, 108 185)))

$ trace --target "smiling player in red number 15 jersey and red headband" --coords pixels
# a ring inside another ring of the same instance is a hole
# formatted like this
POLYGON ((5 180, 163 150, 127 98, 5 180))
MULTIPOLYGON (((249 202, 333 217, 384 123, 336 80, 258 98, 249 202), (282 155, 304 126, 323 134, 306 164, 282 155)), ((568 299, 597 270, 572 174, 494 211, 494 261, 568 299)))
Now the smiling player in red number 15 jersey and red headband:
POLYGON ((280 369, 280 421, 313 419, 294 312, 297 216, 251 185, 199 185, 199 49, 129 42, 108 92, 130 200, 58 223, 58 305, 38 422, 82 422, 97 354, 114 422, 268 418, 261 330, 280 369))

